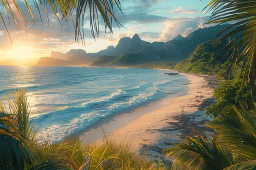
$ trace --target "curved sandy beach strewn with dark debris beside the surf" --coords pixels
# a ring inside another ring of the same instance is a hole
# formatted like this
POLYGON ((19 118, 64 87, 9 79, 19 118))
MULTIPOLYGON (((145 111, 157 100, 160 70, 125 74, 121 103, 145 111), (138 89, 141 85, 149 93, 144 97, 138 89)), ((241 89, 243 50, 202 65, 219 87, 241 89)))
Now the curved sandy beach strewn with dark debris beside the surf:
MULTIPOLYGON (((203 124, 210 118, 203 108, 214 102, 214 76, 180 73, 187 76, 187 95, 165 98, 136 109, 99 120, 76 135, 84 143, 102 142, 103 134, 117 143, 130 144, 137 153, 161 157, 162 149, 188 135, 207 132, 203 124)), ((211 133, 211 132, 209 132, 211 133)))

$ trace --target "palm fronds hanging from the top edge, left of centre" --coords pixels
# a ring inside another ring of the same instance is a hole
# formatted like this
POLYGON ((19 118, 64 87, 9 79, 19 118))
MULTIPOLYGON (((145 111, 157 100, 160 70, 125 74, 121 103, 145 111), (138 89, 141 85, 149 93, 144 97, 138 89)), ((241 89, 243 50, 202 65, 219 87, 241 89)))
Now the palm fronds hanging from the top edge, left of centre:
MULTIPOLYGON (((7 23, 9 22, 10 25, 10 21, 13 20, 17 31, 19 31, 19 24, 17 21, 18 18, 21 19, 25 27, 27 27, 27 23, 22 12, 20 11, 21 2, 17 3, 16 0, 1 0, 1 2, 4 12, 0 11, 0 19, 11 39, 11 36, 8 32, 7 23), (4 15, 6 15, 6 17, 4 15)), ((23 0, 23 2, 34 24, 35 18, 34 14, 32 13, 31 6, 34 5, 36 7, 41 19, 41 25, 43 25, 41 9, 46 14, 49 24, 48 11, 46 10, 47 6, 49 5, 52 12, 59 20, 61 26, 63 22, 71 22, 74 25, 75 39, 81 39, 82 43, 84 41, 84 17, 87 15, 87 10, 90 16, 91 34, 94 38, 98 37, 99 35, 99 16, 101 16, 104 21, 105 33, 107 29, 109 29, 111 34, 113 33, 113 21, 118 25, 118 27, 120 25, 117 18, 114 16, 115 7, 121 11, 119 0, 33 0, 33 3, 32 1, 27 2, 27 0, 23 0), (75 14, 75 16, 73 16, 73 14, 75 14), (73 19, 73 17, 75 17, 75 19, 73 19)))

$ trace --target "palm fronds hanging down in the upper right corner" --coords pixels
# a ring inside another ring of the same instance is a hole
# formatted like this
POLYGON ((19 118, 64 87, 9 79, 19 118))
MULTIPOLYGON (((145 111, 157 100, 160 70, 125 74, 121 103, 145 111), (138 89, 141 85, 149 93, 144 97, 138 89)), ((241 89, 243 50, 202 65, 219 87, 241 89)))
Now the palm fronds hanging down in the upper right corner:
POLYGON ((255 0, 211 0, 205 7, 212 12, 208 23, 232 23, 217 36, 219 40, 230 39, 227 46, 232 50, 229 60, 235 68, 243 62, 243 80, 247 77, 256 90, 256 1, 255 0))

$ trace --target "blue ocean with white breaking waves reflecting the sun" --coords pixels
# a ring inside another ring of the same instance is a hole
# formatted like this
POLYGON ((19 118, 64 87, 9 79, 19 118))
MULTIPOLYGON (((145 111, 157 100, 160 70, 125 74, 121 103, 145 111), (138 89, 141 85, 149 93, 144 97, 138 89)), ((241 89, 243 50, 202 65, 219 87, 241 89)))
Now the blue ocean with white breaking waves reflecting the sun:
POLYGON ((146 68, 0 66, 0 98, 27 88, 38 136, 59 141, 99 119, 187 93, 183 75, 146 68))

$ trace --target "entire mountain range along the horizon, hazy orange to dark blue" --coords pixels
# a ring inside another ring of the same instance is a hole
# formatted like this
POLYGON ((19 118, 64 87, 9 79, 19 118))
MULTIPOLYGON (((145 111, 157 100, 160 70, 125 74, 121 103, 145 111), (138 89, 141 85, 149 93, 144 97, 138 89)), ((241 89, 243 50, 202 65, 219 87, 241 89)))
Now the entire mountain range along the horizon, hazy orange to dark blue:
MULTIPOLYGON (((128 66, 139 67, 148 63, 180 62, 189 57, 197 45, 212 40, 226 25, 198 29, 183 37, 178 34, 170 41, 147 42, 140 39, 138 34, 132 38, 123 37, 116 47, 109 46, 105 50, 87 53, 81 49, 72 49, 67 53, 52 51, 49 57, 41 57, 36 66, 128 66)), ((19 61, 8 59, 0 61, 0 65, 17 65, 19 61)), ((36 63, 36 64, 35 64, 36 63)))

